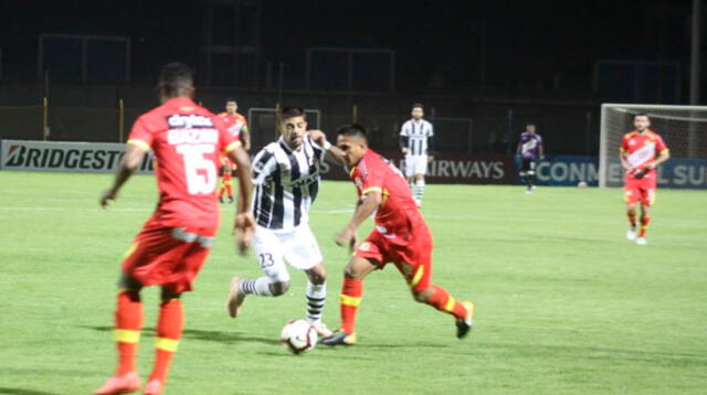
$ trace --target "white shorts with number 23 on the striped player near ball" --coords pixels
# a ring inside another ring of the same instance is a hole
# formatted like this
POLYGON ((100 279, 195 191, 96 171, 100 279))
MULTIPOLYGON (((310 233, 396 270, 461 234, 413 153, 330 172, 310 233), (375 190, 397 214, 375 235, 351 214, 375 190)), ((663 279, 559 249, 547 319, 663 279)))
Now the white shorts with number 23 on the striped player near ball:
POLYGON ((273 232, 256 226, 253 249, 257 264, 273 282, 289 281, 287 261, 298 270, 310 269, 321 263, 321 250, 308 224, 291 232, 273 232))

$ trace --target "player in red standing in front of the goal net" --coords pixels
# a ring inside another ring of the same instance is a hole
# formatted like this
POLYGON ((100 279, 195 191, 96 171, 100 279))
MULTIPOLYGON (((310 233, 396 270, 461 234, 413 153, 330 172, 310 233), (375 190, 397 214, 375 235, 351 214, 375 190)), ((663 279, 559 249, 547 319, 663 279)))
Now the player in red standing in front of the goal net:
POLYGON ((621 166, 626 172, 624 200, 631 227, 626 238, 645 245, 645 232, 651 223, 650 207, 655 200, 656 171, 671 158, 663 138, 648 129, 651 119, 646 114, 633 116, 634 130, 625 134, 621 142, 621 166), (641 202, 641 228, 636 233, 636 204, 641 202))

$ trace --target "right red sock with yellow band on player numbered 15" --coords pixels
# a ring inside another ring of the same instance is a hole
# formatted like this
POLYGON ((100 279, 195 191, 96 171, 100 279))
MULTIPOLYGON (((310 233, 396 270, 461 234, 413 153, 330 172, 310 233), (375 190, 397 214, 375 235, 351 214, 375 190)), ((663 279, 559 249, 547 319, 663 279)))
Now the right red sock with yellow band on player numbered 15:
POLYGON ((149 380, 167 382, 167 371, 177 351, 179 338, 184 325, 183 321, 184 311, 179 299, 170 299, 160 305, 157 338, 155 338, 155 366, 149 380))

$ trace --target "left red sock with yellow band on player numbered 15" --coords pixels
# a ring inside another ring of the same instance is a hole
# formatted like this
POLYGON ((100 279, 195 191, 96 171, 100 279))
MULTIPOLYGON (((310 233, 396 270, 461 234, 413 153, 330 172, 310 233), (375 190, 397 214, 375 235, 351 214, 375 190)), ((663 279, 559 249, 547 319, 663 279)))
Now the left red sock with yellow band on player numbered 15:
POLYGON ((135 371, 137 343, 140 341, 143 328, 143 303, 136 290, 118 291, 118 306, 115 311, 114 337, 118 349, 117 375, 135 371))

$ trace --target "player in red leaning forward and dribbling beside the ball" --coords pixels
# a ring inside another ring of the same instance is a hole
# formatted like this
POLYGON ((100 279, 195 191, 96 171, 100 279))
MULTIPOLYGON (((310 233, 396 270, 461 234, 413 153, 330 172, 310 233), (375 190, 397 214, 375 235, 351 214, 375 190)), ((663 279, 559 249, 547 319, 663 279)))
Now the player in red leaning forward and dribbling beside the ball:
POLYGON ((454 316, 456 335, 464 338, 472 329, 474 305, 460 302, 444 288, 432 284, 432 235, 404 177, 368 148, 366 129, 359 125, 339 128, 337 147, 351 169, 350 178, 359 200, 354 217, 336 236, 337 244, 355 249, 344 269, 341 330, 321 343, 356 343, 356 311, 363 293, 363 278, 387 263, 393 263, 405 277, 416 301, 454 316), (376 228, 363 243, 356 245, 356 229, 373 214, 376 228))

